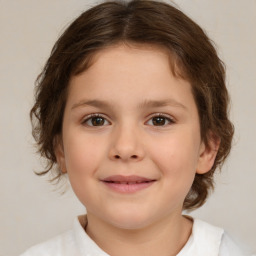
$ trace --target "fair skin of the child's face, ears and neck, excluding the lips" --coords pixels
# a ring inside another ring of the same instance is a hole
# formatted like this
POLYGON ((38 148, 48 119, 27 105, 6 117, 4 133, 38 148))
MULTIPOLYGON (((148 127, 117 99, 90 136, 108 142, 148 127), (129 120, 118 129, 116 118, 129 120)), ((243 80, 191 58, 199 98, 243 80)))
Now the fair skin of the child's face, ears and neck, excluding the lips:
POLYGON ((104 251, 170 256, 191 234, 182 205, 196 172, 214 163, 218 143, 209 145, 201 141, 191 85, 172 74, 167 52, 119 44, 72 77, 56 156, 87 209, 86 232, 104 251), (91 114, 101 115, 99 126, 91 114), (156 181, 124 194, 101 181, 111 175, 156 181))

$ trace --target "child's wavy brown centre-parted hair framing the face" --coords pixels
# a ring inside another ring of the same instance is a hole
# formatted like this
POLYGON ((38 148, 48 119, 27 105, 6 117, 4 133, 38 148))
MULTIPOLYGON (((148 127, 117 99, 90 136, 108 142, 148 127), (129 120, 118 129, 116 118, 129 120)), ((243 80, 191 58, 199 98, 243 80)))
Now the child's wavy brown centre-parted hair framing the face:
MULTIPOLYGON (((164 47, 175 58, 180 75, 190 81, 200 116, 202 140, 209 132, 220 139, 212 169, 196 174, 184 209, 200 207, 213 188, 213 174, 229 154, 233 125, 228 119, 229 96, 225 69, 204 31, 184 13, 166 3, 133 0, 99 4, 82 13, 55 43, 37 78, 36 101, 30 112, 33 136, 40 154, 47 159, 46 174, 61 171, 54 149, 61 134, 67 89, 72 76, 88 68, 99 50, 119 42, 164 47)), ((177 75, 177 74, 176 74, 177 75)))

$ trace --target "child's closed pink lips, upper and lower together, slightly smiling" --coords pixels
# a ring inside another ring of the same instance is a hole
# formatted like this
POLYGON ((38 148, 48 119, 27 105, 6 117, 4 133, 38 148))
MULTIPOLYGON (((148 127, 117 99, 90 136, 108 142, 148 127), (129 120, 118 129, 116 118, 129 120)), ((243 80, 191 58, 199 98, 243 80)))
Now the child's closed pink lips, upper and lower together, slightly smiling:
POLYGON ((152 186, 156 180, 136 175, 113 175, 106 177, 101 181, 106 187, 115 192, 129 194, 152 186))

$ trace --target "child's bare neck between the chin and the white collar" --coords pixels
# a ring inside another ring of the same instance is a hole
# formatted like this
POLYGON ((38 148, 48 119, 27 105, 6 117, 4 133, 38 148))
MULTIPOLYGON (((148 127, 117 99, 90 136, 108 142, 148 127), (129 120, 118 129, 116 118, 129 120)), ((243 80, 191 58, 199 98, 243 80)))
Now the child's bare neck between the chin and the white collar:
POLYGON ((181 216, 168 216, 141 229, 122 229, 87 213, 87 234, 111 256, 172 256, 186 244, 192 221, 181 216))

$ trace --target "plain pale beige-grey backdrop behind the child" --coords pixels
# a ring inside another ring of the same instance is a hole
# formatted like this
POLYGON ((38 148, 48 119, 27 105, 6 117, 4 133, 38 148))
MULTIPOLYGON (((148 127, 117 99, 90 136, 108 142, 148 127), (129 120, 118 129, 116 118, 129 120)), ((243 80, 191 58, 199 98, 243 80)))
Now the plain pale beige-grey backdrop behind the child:
MULTIPOLYGON (((69 188, 47 178, 35 153, 29 110, 34 80, 69 22, 97 3, 85 0, 0 0, 0 255, 28 247, 72 226, 84 213, 69 188)), ((227 66, 236 133, 229 160, 208 202, 191 214, 224 227, 256 251, 256 1, 177 0, 215 41, 227 66)))

